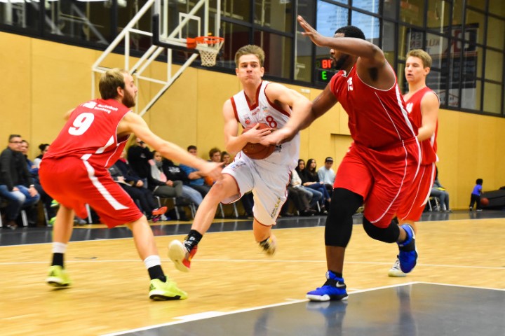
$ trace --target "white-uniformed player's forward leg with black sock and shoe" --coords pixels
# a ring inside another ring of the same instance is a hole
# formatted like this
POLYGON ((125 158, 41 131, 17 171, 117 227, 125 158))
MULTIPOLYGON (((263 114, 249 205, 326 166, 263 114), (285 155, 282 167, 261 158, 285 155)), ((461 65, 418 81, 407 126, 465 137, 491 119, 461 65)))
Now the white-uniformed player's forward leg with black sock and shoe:
POLYGON ((238 196, 235 179, 228 174, 223 174, 222 179, 214 183, 206 197, 203 198, 184 243, 174 240, 168 246, 168 257, 174 262, 175 268, 181 272, 189 272, 191 258, 196 253, 200 239, 210 228, 217 206, 222 200, 234 195, 238 196))

